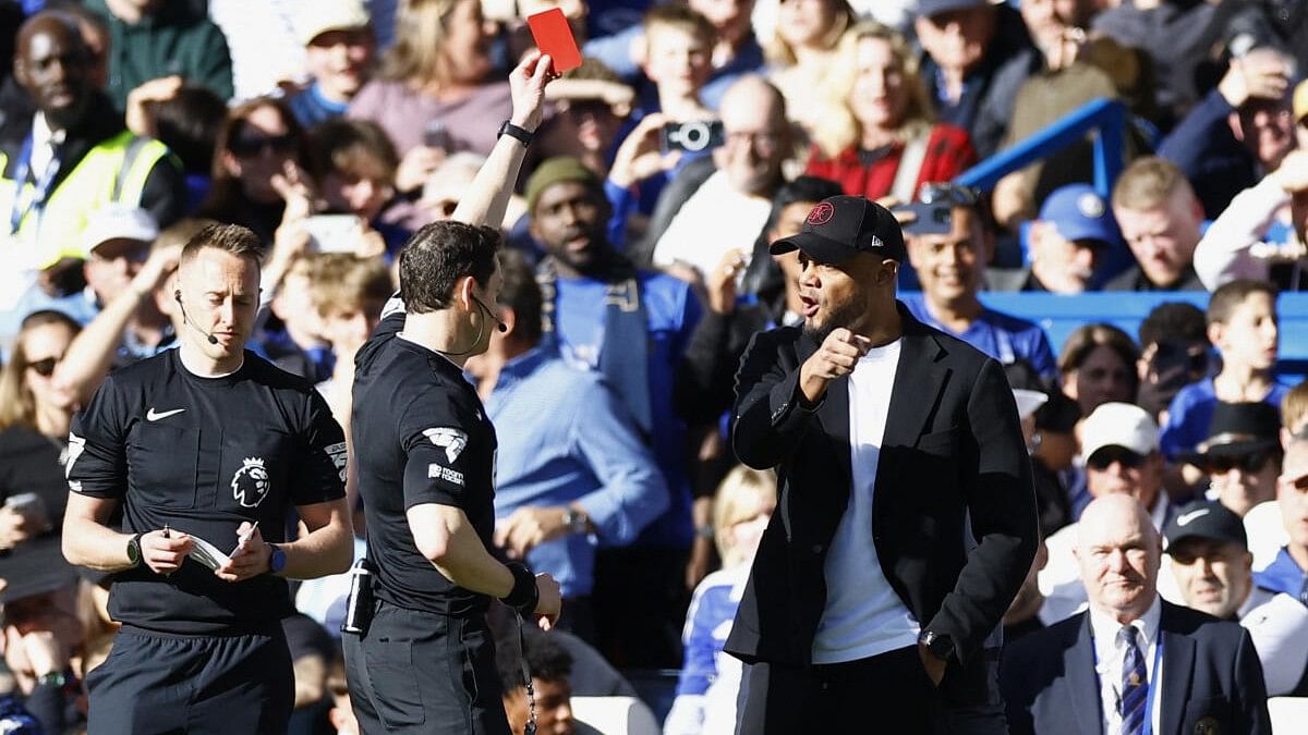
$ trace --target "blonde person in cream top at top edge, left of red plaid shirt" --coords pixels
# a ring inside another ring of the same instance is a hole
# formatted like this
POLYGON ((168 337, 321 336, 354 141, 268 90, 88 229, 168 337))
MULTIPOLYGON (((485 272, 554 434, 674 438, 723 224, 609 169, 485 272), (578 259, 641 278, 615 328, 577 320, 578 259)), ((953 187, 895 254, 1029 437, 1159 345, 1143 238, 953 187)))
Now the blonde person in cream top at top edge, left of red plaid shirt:
POLYGON ((820 119, 821 82, 841 35, 854 22, 845 0, 780 0, 777 27, 764 48, 768 80, 786 98, 786 112, 811 132, 820 119))

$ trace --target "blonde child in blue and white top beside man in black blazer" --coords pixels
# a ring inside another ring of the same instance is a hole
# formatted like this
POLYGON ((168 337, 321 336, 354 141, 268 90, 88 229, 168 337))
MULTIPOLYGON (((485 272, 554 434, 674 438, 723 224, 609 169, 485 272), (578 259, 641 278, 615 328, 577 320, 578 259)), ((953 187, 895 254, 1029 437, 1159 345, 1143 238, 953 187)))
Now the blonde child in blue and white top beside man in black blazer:
POLYGON ((685 663, 676 700, 663 725, 664 735, 732 732, 740 687, 740 662, 725 655, 749 566, 763 531, 777 506, 772 472, 738 466, 727 473, 713 501, 713 528, 722 569, 695 589, 685 615, 685 663))

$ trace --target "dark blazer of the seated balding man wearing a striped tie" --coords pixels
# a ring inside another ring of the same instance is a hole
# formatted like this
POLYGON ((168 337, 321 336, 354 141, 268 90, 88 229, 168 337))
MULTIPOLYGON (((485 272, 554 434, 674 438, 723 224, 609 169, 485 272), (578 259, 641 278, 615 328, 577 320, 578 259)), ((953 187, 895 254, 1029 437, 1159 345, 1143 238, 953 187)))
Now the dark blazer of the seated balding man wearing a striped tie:
MULTIPOLYGON (((1163 701, 1158 735, 1270 735, 1262 664, 1239 623, 1163 600, 1159 630, 1163 701)), ((1006 647, 999 685, 1012 735, 1099 735, 1103 705, 1090 613, 1074 615, 1006 647)))

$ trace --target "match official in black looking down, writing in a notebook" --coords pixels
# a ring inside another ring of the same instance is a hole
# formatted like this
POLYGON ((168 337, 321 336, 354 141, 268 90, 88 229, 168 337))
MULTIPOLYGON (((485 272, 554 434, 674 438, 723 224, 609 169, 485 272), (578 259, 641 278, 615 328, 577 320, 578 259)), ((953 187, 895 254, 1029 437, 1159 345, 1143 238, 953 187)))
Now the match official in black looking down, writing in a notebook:
POLYGON ((73 419, 64 556, 116 573, 123 624, 86 681, 97 735, 284 734, 284 578, 349 566, 341 429, 313 386, 245 350, 260 252, 235 225, 191 238, 181 348, 110 374, 73 419), (283 543, 292 505, 309 532, 283 543), (205 543, 230 560, 187 558, 205 543))

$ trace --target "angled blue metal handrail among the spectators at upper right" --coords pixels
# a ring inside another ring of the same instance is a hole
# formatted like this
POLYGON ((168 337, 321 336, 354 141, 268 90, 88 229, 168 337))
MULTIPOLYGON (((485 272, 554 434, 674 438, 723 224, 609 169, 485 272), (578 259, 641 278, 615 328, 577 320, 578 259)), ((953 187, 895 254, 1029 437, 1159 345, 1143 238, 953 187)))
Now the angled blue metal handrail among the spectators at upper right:
POLYGON ((981 191, 990 191, 1005 174, 1052 156, 1074 143, 1079 143, 1086 137, 1086 133, 1097 131, 1099 135, 1095 136, 1093 141, 1095 191, 1108 199, 1113 190, 1113 182, 1122 173, 1125 128, 1126 107, 1121 102, 1108 98, 1095 99, 1035 135, 963 171, 954 180, 981 191))

